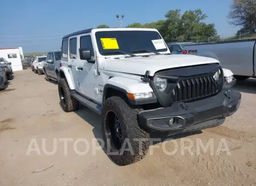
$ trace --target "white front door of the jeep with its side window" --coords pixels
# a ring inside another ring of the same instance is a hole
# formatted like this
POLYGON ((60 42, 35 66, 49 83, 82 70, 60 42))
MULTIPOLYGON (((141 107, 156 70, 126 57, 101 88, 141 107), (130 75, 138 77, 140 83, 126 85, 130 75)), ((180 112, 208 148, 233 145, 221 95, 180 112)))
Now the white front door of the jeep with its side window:
MULTIPOLYGON (((79 41, 79 48, 89 49, 92 56, 91 59, 96 59, 90 34, 81 35, 79 41)), ((99 90, 97 86, 97 62, 89 63, 86 60, 81 60, 79 57, 77 60, 77 69, 82 93, 86 97, 98 102, 99 90)))

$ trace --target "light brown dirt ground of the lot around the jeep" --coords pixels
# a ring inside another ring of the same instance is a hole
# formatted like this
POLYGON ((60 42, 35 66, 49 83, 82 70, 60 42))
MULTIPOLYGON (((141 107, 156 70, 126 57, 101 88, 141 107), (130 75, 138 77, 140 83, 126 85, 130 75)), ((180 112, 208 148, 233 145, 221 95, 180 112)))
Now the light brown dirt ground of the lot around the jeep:
POLYGON ((101 138, 97 114, 83 106, 64 113, 56 83, 31 69, 15 72, 0 92, 0 185, 256 185, 256 80, 234 89, 242 93, 241 106, 223 125, 166 142, 159 134, 162 142, 152 144, 146 158, 119 167, 95 141, 101 138), (64 149, 61 140, 66 138, 72 142, 64 149), (78 143, 80 138, 89 143, 78 143), (183 154, 184 139, 193 143, 193 153, 183 154), (198 139, 203 144, 212 140, 213 153, 208 149, 196 154, 198 139), (34 151, 27 154, 31 142, 34 151), (224 142, 229 151, 218 148, 224 142), (56 152, 47 154, 55 144, 56 152), (175 144, 177 152, 166 153, 175 144))

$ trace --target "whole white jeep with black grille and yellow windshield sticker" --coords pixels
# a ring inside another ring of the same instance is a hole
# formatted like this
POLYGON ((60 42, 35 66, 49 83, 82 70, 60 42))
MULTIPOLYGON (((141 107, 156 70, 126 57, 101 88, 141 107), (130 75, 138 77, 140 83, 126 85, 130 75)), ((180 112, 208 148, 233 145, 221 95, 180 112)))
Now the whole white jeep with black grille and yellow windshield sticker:
POLYGON ((154 131, 187 133, 221 125, 240 106, 233 73, 219 61, 171 55, 150 28, 96 28, 63 37, 59 96, 64 111, 79 102, 101 114, 108 156, 141 160, 154 131), (129 150, 127 150, 129 149, 129 150))

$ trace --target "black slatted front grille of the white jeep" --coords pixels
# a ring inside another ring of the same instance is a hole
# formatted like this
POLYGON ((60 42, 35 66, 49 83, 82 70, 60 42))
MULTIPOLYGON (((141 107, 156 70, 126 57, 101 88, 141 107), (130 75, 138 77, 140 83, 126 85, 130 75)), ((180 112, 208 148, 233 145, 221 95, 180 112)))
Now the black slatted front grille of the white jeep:
POLYGON ((218 84, 212 76, 181 80, 171 92, 172 102, 201 98, 218 92, 218 84))

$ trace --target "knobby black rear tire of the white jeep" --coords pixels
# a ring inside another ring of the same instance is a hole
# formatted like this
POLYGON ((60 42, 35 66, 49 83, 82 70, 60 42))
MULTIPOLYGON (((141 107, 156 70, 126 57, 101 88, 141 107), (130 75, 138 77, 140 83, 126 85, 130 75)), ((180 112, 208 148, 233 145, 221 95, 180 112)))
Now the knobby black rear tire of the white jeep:
POLYGON ((58 82, 58 90, 59 90, 61 108, 67 113, 77 110, 77 108, 79 107, 79 102, 71 96, 70 89, 65 78, 60 78, 58 82), (64 92, 65 105, 61 101, 61 92, 60 92, 61 88, 64 92))

